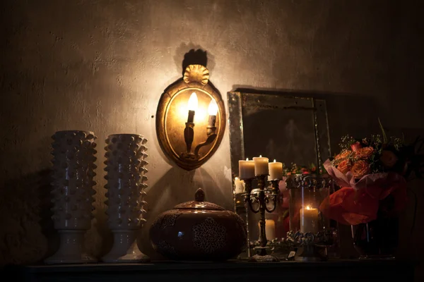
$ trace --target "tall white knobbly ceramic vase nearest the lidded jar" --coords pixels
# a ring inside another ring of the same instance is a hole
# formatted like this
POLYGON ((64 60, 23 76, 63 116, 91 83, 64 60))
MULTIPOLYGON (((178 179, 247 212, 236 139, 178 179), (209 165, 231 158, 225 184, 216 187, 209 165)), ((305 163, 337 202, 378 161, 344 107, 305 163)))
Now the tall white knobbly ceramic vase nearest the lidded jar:
POLYGON ((103 262, 146 262, 137 246, 137 231, 143 219, 147 140, 142 135, 115 134, 107 137, 106 197, 108 224, 114 235, 112 250, 103 262))

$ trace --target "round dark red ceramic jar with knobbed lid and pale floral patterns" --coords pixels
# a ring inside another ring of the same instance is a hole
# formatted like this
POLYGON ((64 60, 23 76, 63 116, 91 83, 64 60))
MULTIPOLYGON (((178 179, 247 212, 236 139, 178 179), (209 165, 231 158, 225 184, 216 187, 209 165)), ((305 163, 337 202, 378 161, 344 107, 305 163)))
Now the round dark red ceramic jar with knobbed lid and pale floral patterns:
POLYGON ((235 212, 204 202, 199 188, 195 200, 160 214, 150 229, 153 248, 175 260, 231 259, 247 247, 245 221, 235 212))

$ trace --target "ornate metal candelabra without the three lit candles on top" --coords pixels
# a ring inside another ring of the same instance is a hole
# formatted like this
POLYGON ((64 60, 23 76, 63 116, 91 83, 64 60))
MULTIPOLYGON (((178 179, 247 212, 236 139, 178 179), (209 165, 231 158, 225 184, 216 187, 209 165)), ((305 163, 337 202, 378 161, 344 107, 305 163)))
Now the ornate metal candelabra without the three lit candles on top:
POLYGON ((254 213, 260 214, 259 219, 259 246, 255 247, 258 254, 250 258, 254 262, 278 262, 278 258, 271 255, 267 255, 266 244, 268 240, 266 239, 266 230, 265 230, 265 212, 273 212, 277 207, 278 202, 278 183, 279 179, 271 180, 272 188, 266 188, 266 178, 267 175, 256 176, 258 182, 259 192, 252 194, 252 182, 254 178, 243 179, 245 181, 245 204, 249 209, 254 213), (254 204, 257 203, 257 204, 254 204))

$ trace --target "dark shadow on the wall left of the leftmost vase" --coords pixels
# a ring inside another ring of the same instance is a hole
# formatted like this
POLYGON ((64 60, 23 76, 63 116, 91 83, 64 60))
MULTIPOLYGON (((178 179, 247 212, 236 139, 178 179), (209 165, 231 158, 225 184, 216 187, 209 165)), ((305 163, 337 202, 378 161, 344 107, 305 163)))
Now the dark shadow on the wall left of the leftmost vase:
POLYGON ((4 183, 0 188, 0 266, 38 262, 54 252, 59 240, 51 207, 49 169, 4 183))

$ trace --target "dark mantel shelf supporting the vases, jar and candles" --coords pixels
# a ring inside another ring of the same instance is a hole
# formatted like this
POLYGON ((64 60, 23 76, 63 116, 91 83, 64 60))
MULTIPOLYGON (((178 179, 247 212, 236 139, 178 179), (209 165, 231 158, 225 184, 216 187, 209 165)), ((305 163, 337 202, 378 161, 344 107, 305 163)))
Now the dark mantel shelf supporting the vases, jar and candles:
POLYGON ((337 260, 330 262, 69 264, 15 266, 8 281, 413 281, 414 262, 337 260), (17 279, 18 278, 18 279, 17 279), (266 280, 273 279, 273 280, 266 280), (287 280, 290 279, 290 280, 287 280))

